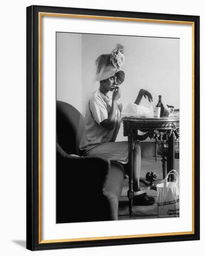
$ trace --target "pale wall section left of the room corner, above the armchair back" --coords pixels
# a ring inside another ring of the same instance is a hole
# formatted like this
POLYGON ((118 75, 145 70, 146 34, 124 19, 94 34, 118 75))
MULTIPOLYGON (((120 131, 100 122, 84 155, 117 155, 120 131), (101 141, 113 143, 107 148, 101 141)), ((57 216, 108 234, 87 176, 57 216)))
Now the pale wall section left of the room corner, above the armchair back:
POLYGON ((81 34, 57 33, 56 98, 82 109, 81 34))

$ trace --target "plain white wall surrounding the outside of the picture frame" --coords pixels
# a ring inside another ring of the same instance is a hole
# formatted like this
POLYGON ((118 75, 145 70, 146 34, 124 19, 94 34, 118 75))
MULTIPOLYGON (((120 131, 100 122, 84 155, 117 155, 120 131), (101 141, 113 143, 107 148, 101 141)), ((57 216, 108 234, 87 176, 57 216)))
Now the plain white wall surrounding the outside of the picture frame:
MULTIPOLYGON (((138 244, 83 249, 30 252, 26 246, 26 6, 50 5, 78 8, 201 15, 201 70, 205 70, 205 12, 203 1, 164 0, 94 1, 27 0, 1 3, 1 126, 0 126, 0 253, 28 255, 202 255, 205 244, 205 134, 201 133, 201 240, 176 243, 138 244)), ((205 127, 205 74, 201 72, 201 130, 205 127)))

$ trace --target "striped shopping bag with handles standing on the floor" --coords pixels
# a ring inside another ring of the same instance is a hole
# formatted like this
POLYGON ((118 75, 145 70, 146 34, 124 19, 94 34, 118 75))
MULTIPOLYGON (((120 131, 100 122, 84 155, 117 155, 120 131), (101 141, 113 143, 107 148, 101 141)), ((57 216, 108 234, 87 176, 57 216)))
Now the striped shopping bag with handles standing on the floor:
POLYGON ((179 174, 175 170, 167 173, 163 181, 157 184, 157 206, 159 218, 179 217, 179 174), (175 181, 167 182, 172 173, 175 181))

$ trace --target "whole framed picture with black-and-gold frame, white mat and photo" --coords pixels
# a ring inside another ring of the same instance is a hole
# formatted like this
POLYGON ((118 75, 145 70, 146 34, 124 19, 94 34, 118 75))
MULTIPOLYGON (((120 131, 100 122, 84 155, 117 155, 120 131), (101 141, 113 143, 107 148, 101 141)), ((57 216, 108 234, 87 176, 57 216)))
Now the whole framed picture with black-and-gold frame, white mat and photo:
POLYGON ((30 6, 26 33, 27 249, 199 240, 199 16, 30 6))

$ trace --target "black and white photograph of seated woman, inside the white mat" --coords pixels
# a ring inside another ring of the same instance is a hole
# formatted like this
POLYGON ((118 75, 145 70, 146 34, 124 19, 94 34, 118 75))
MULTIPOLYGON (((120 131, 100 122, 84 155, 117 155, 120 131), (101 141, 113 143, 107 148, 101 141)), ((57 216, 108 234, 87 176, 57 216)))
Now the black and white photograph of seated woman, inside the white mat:
POLYGON ((56 223, 180 217, 179 50, 56 32, 56 223))

